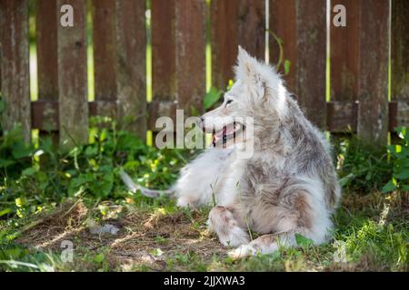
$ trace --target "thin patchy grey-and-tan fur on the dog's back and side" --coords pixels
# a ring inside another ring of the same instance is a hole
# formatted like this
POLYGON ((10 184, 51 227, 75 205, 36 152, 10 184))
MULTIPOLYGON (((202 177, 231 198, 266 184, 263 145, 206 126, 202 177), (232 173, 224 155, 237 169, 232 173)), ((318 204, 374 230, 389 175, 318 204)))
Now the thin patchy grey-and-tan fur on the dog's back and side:
POLYGON ((311 228, 317 224, 313 218, 323 221, 318 227, 331 227, 327 214, 316 213, 333 212, 341 193, 324 134, 305 119, 289 95, 285 98, 284 118, 274 124, 269 105, 254 111, 255 153, 241 180, 252 226, 264 234, 286 232, 289 223, 311 228))

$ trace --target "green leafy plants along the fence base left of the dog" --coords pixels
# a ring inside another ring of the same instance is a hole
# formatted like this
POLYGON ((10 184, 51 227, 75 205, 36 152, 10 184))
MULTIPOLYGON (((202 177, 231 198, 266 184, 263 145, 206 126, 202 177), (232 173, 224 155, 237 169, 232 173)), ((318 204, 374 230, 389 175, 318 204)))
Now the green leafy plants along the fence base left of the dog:
POLYGON ((110 119, 90 124, 89 143, 68 152, 55 149, 51 138, 36 148, 26 144, 19 127, 0 136, 0 218, 25 218, 64 198, 125 200, 121 168, 146 187, 167 188, 190 154, 149 147, 110 119))

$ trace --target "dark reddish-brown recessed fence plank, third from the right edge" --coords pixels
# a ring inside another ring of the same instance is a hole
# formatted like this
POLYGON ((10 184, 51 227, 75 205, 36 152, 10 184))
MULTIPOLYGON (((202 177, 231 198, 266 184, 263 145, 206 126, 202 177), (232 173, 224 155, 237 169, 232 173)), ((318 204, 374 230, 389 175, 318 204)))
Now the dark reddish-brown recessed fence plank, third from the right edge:
POLYGON ((344 110, 327 111, 327 128, 333 132, 356 131, 356 113, 359 81, 358 24, 359 2, 356 0, 333 0, 331 2, 331 102, 344 110), (344 5, 346 26, 334 26, 335 5, 344 5))

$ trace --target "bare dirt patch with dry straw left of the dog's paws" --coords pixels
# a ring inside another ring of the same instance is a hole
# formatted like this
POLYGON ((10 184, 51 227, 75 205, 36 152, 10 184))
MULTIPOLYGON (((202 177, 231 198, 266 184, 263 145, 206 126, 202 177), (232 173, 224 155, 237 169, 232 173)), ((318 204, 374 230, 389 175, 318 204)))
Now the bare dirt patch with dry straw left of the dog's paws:
POLYGON ((122 218, 100 220, 100 224, 118 228, 115 235, 92 234, 87 222, 89 214, 81 202, 67 203, 55 213, 35 220, 16 242, 33 251, 60 253, 62 242, 68 240, 73 243, 75 254, 109 249, 106 258, 112 268, 144 265, 159 271, 165 269, 166 258, 176 253, 192 251, 204 261, 226 253, 217 239, 209 235, 205 217, 198 212, 186 215, 135 209, 122 218))

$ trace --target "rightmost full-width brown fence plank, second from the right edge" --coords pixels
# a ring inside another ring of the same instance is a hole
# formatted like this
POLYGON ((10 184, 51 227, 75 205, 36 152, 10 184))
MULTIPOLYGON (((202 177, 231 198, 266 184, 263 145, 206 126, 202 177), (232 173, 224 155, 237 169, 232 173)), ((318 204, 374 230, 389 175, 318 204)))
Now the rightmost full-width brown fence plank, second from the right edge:
POLYGON ((386 144, 388 132, 389 2, 360 1, 358 136, 386 144))

